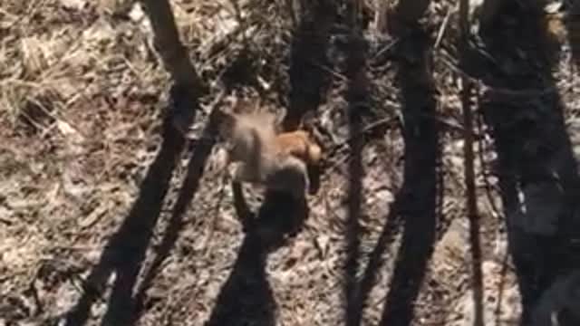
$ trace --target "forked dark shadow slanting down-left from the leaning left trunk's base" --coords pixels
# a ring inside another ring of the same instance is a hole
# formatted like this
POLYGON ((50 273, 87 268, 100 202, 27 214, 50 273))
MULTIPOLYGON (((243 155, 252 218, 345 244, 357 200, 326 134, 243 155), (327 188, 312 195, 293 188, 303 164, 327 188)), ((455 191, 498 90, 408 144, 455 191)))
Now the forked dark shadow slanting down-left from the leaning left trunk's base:
MULTIPOLYGON (((198 108, 197 98, 179 85, 174 85, 171 89, 171 101, 171 112, 194 108, 195 113, 197 111, 195 109, 198 108)), ((92 268, 83 283, 82 296, 67 313, 65 325, 78 326, 88 321, 92 304, 102 300, 105 285, 113 273, 115 280, 102 324, 131 324, 135 309, 132 300, 133 286, 137 282, 153 230, 159 220, 173 170, 185 145, 185 139, 179 130, 175 129, 172 120, 171 114, 164 120, 160 151, 141 183, 139 197, 119 230, 105 245, 99 263, 92 268)), ((194 157, 192 160, 205 161, 205 158, 194 157)), ((197 181, 193 183, 197 184, 197 181)), ((171 228, 172 226, 169 226, 169 230, 171 228)))

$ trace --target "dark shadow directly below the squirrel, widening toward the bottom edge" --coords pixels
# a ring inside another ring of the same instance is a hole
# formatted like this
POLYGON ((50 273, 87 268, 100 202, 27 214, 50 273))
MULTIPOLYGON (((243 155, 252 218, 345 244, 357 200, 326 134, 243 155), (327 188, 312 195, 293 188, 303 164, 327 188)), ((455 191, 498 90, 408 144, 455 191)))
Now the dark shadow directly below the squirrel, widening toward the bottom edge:
POLYGON ((295 235, 308 216, 305 200, 267 191, 257 216, 247 207, 240 184, 232 183, 234 206, 245 232, 237 260, 222 286, 206 326, 276 324, 276 303, 266 275, 267 255, 295 235))

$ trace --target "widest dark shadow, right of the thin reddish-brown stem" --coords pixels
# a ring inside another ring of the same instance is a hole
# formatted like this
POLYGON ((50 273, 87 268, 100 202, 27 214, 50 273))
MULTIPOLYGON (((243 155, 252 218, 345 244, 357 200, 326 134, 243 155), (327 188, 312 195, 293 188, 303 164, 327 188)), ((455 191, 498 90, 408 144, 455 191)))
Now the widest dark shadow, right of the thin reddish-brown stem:
POLYGON ((498 152, 500 197, 509 253, 527 325, 537 299, 556 277, 578 267, 580 179, 552 71, 558 46, 540 8, 505 1, 480 36, 487 55, 465 69, 491 89, 480 110, 498 152))

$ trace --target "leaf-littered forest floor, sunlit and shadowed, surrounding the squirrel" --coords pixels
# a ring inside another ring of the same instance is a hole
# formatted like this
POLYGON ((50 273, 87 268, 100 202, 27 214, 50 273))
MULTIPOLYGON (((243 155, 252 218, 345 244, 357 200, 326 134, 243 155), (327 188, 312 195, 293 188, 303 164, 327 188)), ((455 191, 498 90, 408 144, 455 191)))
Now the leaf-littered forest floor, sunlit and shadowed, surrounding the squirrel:
POLYGON ((370 3, 350 37, 324 7, 298 33, 283 1, 171 1, 208 86, 183 142, 163 124, 169 74, 140 4, 0 2, 0 326, 517 324, 580 261, 576 25, 559 2, 541 22, 504 13, 459 55, 456 2, 392 33, 370 3), (204 134, 218 93, 316 108, 307 218, 256 226, 284 241, 237 217, 224 146, 204 134), (533 262, 514 264, 508 240, 533 262))

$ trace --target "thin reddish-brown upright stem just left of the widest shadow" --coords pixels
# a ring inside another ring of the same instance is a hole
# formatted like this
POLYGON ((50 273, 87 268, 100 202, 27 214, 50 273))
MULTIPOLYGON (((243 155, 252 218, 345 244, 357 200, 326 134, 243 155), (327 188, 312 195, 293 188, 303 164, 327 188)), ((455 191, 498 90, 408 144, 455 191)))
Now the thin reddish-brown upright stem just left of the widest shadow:
MULTIPOLYGON (((461 37, 459 39, 459 53, 466 55, 469 46, 469 0, 459 2, 459 29, 461 37)), ((461 104, 463 107, 463 127, 465 132, 464 143, 464 173, 466 184, 466 206, 469 216, 469 238, 471 244, 471 273, 472 273, 472 293, 474 304, 474 325, 483 326, 483 280, 481 273, 481 245, 479 241, 479 221, 478 206, 475 187, 475 168, 473 166, 475 155, 473 153, 473 112, 471 111, 471 91, 472 82, 460 75, 461 85, 461 104)))

